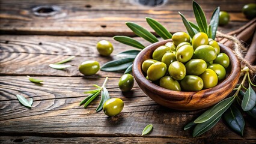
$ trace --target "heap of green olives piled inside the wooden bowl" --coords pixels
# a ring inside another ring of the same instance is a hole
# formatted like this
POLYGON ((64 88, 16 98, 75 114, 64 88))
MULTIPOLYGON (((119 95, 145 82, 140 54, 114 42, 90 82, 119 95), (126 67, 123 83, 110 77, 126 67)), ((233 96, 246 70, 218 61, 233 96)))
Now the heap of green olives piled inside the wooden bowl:
POLYGON ((176 32, 172 41, 157 47, 153 59, 142 63, 148 80, 174 91, 200 91, 225 78, 230 58, 207 34, 199 32, 191 41, 185 32, 176 32))

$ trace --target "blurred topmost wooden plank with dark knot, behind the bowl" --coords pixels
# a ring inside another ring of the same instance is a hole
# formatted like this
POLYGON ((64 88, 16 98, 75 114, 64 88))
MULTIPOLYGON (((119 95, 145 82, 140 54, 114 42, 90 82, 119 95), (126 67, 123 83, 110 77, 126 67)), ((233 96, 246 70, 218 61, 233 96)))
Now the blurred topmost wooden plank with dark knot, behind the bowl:
MULTIPOLYGON (((254 1, 198 1, 206 11, 208 20, 217 6, 230 12, 230 24, 219 27, 219 31, 224 33, 238 29, 248 21, 241 10, 243 5, 249 2, 254 1), (236 5, 231 5, 234 2, 236 5)), ((159 7, 144 7, 133 0, 111 2, 92 0, 87 2, 1 1, 0 31, 1 34, 134 36, 125 22, 136 22, 153 31, 145 22, 145 17, 159 20, 171 32, 186 31, 178 11, 183 13, 188 20, 195 22, 191 1, 173 0, 159 7), (37 16, 32 8, 40 5, 55 5, 60 10, 52 16, 37 16)))

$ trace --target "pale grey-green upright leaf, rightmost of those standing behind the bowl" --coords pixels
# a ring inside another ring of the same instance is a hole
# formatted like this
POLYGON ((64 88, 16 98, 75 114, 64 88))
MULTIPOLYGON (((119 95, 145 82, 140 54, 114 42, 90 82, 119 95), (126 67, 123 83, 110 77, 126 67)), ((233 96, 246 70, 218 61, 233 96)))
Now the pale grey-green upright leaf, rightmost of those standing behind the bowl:
POLYGON ((216 7, 216 9, 213 11, 213 15, 210 21, 210 25, 212 27, 212 39, 215 40, 216 32, 219 25, 219 7, 216 7))

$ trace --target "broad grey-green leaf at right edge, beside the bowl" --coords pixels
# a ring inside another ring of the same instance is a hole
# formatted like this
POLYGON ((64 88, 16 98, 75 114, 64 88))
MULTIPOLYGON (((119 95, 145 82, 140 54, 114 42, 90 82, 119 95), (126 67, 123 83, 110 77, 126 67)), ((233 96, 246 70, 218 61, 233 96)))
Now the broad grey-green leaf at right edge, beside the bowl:
POLYGON ((254 89, 252 89, 251 85, 246 90, 245 95, 242 100, 242 109, 243 111, 251 110, 256 103, 256 94, 254 89))

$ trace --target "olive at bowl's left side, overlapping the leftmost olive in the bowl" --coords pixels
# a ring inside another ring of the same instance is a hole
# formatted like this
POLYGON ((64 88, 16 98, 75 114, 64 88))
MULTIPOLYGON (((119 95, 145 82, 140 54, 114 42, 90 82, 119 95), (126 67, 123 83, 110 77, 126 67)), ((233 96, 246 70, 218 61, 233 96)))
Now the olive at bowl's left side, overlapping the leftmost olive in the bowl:
POLYGON ((148 68, 147 75, 148 79, 155 81, 165 76, 167 67, 163 62, 156 62, 148 68))

